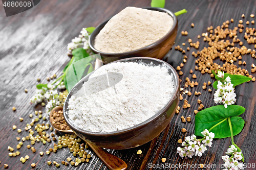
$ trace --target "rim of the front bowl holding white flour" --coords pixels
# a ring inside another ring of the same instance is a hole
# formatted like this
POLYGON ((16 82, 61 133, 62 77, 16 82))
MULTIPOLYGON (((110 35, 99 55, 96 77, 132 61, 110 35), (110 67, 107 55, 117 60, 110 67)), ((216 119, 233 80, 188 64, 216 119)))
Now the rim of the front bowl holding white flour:
MULTIPOLYGON (((113 61, 111 63, 116 63, 116 62, 129 62, 129 60, 140 60, 140 59, 148 59, 148 60, 154 60, 156 62, 161 62, 163 64, 166 64, 168 66, 168 69, 172 70, 172 74, 174 76, 174 80, 176 81, 176 87, 175 87, 175 92, 172 96, 172 98, 169 100, 168 103, 165 104, 165 106, 158 112, 156 113, 155 115, 153 115, 152 117, 146 119, 144 122, 140 123, 140 124, 137 124, 135 126, 132 126, 130 128, 126 128, 126 129, 122 129, 122 130, 119 130, 119 131, 113 131, 113 132, 92 132, 92 131, 86 131, 86 130, 83 130, 83 129, 80 129, 80 128, 77 128, 77 127, 74 127, 71 123, 70 123, 70 120, 68 119, 67 115, 66 115, 66 112, 68 113, 68 111, 65 110, 66 108, 66 105, 68 105, 68 102, 67 100, 70 99, 69 98, 69 95, 70 95, 70 92, 75 89, 76 85, 81 83, 83 81, 83 79, 86 79, 87 77, 90 77, 93 72, 91 72, 90 74, 88 74, 86 77, 82 78, 69 92, 69 94, 67 95, 67 98, 65 100, 65 103, 63 105, 63 116, 67 122, 67 124, 70 126, 71 129, 75 129, 75 131, 78 131, 80 134, 86 134, 86 135, 93 135, 93 136, 113 136, 113 135, 120 135, 120 134, 124 134, 124 133, 128 133, 128 132, 131 132, 131 131, 134 131, 136 129, 140 129, 141 127, 145 126, 146 124, 148 123, 151 123, 151 122, 154 122, 155 119, 157 119, 159 116, 161 116, 161 114, 165 111, 166 108, 170 107, 170 105, 173 104, 173 102, 175 101, 176 99, 176 95, 178 95, 179 93, 179 83, 180 83, 180 79, 179 79, 179 76, 178 76, 178 73, 177 71, 174 69, 174 67, 172 65, 170 65, 169 63, 163 61, 163 60, 160 60, 160 59, 156 59, 156 58, 152 58, 152 57, 131 57, 131 58, 125 58, 125 59, 120 59, 120 60, 117 60, 117 61, 113 61)), ((132 62, 132 61, 131 61, 132 62)), ((111 64, 111 63, 108 63, 108 64, 111 64)), ((105 64, 105 65, 108 65, 108 64, 105 64)), ((67 106, 68 107, 68 106, 67 106)))

